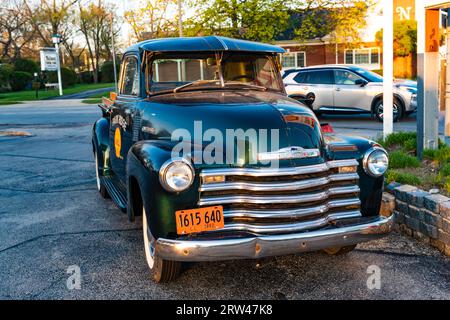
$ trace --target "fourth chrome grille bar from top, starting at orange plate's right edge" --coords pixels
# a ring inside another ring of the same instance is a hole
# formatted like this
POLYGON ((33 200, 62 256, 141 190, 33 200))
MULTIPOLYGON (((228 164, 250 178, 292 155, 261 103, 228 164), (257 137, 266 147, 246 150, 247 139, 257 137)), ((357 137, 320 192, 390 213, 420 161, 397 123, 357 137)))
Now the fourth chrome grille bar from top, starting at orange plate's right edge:
POLYGON ((261 218, 304 218, 316 214, 323 214, 330 209, 341 208, 346 206, 360 205, 359 198, 352 199, 339 199, 332 200, 326 204, 308 207, 301 209, 285 209, 285 210, 224 210, 223 215, 225 218, 249 218, 249 219, 261 219, 261 218))

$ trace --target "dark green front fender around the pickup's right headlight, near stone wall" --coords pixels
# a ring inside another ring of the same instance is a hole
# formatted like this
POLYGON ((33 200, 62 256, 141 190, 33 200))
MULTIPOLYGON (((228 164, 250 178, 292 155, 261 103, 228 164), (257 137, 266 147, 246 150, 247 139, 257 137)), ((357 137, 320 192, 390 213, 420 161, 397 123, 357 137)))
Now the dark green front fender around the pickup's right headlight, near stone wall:
POLYGON ((327 152, 331 160, 356 159, 359 162, 359 198, 361 200, 361 214, 376 216, 379 214, 381 198, 383 196, 384 176, 374 178, 369 176, 363 167, 364 154, 377 145, 374 141, 359 137, 340 135, 327 136, 327 152))

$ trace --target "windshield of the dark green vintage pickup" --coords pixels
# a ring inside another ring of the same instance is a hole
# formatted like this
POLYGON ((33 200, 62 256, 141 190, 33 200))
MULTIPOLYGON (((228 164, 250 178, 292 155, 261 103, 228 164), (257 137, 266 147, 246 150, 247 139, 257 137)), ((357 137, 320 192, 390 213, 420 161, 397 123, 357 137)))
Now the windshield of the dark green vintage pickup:
POLYGON ((239 87, 281 91, 275 59, 263 54, 165 54, 152 60, 149 93, 239 87))

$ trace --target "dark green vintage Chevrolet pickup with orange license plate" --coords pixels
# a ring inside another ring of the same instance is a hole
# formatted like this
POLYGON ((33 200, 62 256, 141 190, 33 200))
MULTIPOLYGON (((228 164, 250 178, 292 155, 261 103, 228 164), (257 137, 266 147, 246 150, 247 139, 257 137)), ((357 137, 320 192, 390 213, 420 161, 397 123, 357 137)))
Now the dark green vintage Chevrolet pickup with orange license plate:
POLYGON ((157 282, 186 261, 351 251, 387 234, 385 150, 324 134, 287 97, 277 46, 224 37, 140 42, 93 127, 97 187, 142 216, 157 282))

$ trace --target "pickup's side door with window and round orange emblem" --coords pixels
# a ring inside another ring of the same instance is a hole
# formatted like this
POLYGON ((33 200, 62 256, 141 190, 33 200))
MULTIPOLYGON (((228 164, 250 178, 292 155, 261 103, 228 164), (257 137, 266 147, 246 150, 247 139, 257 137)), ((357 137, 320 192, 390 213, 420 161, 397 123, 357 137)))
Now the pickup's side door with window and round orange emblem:
POLYGON ((133 113, 139 99, 139 64, 136 56, 122 63, 119 94, 111 108, 110 162, 114 173, 125 183, 128 150, 133 144, 133 113))

